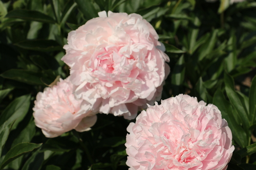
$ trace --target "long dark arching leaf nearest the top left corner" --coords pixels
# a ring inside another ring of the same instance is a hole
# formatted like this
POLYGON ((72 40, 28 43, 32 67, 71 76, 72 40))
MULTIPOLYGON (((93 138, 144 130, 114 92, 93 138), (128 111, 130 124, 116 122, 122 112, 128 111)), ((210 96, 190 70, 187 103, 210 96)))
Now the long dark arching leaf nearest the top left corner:
POLYGON ((24 19, 29 21, 55 23, 55 20, 46 14, 43 14, 38 11, 24 10, 24 9, 10 11, 5 17, 19 18, 19 19, 24 19))

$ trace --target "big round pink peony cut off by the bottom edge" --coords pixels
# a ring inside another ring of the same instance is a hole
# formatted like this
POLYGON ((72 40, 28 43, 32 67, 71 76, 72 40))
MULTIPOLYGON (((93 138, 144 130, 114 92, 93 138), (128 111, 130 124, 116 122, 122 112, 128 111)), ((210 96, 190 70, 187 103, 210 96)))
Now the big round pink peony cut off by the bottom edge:
POLYGON ((189 95, 149 106, 127 131, 130 169, 226 169, 234 150, 220 110, 189 95))

